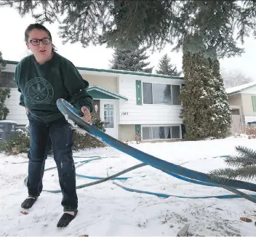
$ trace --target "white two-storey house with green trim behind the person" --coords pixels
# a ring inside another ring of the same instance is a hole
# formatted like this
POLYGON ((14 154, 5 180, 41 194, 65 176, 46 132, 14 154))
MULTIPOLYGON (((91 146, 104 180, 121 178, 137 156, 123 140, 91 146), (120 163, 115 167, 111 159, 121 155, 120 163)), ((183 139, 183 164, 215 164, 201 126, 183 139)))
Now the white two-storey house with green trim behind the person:
MULTIPOLYGON (((20 92, 14 81, 18 62, 7 61, 2 73, 4 85, 11 89, 7 99, 8 120, 17 126, 28 124, 25 109, 19 105, 20 92)), ((182 138, 180 118, 180 88, 183 79, 131 71, 104 70, 77 67, 89 82, 89 93, 94 99, 93 112, 105 122, 106 133, 123 142, 177 140, 182 138)))

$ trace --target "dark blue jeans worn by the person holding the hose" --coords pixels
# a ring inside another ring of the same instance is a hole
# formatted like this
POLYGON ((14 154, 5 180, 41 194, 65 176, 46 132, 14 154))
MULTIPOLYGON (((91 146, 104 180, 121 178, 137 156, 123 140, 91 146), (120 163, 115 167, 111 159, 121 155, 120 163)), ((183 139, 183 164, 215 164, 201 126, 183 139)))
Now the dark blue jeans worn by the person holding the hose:
POLYGON ((63 193, 64 211, 76 210, 78 198, 76 195, 76 169, 73 162, 73 129, 65 118, 49 123, 34 118, 28 114, 31 131, 31 143, 28 152, 28 195, 40 196, 43 189, 44 164, 49 149, 52 148, 60 188, 63 193))

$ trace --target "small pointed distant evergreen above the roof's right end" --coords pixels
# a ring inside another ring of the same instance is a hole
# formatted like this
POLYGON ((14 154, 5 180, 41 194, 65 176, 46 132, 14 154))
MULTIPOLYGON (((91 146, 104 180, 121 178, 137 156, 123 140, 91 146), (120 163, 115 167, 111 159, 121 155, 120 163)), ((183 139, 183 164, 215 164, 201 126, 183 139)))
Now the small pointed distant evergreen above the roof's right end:
POLYGON ((170 58, 165 54, 159 62, 159 70, 157 70, 156 73, 169 76, 180 76, 181 72, 177 71, 176 66, 172 65, 170 62, 170 58))

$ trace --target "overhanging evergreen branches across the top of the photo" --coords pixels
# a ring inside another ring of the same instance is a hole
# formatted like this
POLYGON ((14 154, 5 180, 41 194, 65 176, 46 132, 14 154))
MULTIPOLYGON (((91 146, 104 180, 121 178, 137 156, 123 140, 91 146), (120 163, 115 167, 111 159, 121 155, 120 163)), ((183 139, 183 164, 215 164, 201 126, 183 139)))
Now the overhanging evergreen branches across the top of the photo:
POLYGON ((217 47, 218 57, 239 55, 239 39, 255 32, 253 0, 244 1, 0 1, 39 23, 60 23, 64 43, 107 44, 108 47, 157 47, 171 43, 182 49, 188 33, 199 33, 204 43, 217 47), (95 29, 100 29, 95 31, 95 29))

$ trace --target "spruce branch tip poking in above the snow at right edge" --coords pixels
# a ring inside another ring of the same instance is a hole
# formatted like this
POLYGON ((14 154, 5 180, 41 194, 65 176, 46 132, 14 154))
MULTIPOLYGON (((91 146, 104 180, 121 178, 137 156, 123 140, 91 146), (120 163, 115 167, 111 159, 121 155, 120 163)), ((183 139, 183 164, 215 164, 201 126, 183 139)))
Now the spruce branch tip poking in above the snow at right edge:
POLYGON ((213 180, 229 179, 254 179, 256 177, 256 151, 243 147, 236 146, 238 156, 225 158, 225 163, 232 168, 215 169, 209 172, 213 180))

